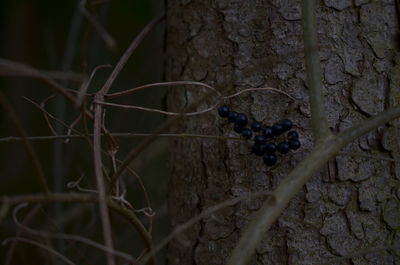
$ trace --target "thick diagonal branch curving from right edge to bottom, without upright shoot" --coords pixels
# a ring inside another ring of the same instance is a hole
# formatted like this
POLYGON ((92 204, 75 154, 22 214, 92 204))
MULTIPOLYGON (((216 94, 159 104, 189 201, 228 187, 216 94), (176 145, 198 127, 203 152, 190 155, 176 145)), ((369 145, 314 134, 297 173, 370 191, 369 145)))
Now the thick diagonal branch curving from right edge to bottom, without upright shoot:
POLYGON ((242 234, 227 264, 248 264, 265 233, 279 218, 290 199, 302 189, 314 173, 347 144, 399 116, 400 106, 381 112, 358 125, 346 129, 337 136, 326 137, 276 188, 273 192, 275 200, 266 200, 242 234))

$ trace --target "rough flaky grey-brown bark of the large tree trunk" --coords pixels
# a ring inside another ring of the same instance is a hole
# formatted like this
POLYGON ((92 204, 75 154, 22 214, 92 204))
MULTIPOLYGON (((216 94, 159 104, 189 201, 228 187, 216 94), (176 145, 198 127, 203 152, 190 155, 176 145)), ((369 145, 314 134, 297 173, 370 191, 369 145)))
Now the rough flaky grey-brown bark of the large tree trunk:
MULTIPOLYGON (((318 3, 325 104, 333 131, 341 131, 400 101, 400 56, 395 1, 318 3)), ((169 209, 173 226, 223 200, 273 190, 312 148, 305 84, 300 1, 167 1, 167 79, 202 81, 223 94, 250 87, 229 106, 251 120, 290 118, 302 148, 267 168, 243 141, 176 139, 171 152, 169 209)), ((175 88, 169 108, 182 110, 204 91, 175 88)), ((205 102, 199 109, 204 109, 205 102)), ((349 145, 290 203, 265 236, 251 264, 400 264, 400 166, 393 122, 349 145), (356 255, 368 249, 367 254, 356 255)), ((237 136, 216 112, 184 119, 177 131, 237 136)), ((170 264, 224 264, 263 199, 252 199, 202 220, 169 246, 170 264)))

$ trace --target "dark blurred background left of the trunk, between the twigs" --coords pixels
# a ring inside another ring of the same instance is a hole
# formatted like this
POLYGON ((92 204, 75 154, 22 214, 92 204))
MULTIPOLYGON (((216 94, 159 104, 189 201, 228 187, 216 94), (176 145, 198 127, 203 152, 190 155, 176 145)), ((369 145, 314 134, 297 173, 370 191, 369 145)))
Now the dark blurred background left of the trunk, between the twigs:
MULTIPOLYGON (((164 1, 160 0, 92 0, 86 9, 104 30, 115 40, 110 47, 100 37, 88 19, 79 9, 81 1, 54 0, 3 0, 0 2, 0 57, 13 62, 24 63, 36 69, 74 73, 75 79, 89 76, 98 65, 115 66, 125 49, 135 36, 152 19, 164 12, 164 1)), ((163 80, 163 34, 164 22, 144 39, 112 86, 111 92, 122 91, 138 85, 163 80)), ((1 68, 0 68, 1 69, 1 68)), ((4 69, 3 69, 4 70, 4 69)), ((112 68, 97 71, 88 92, 98 91, 111 73, 112 68)), ((78 80, 60 80, 62 85, 78 90, 78 80)), ((70 102, 55 93, 39 79, 21 76, 0 75, 0 90, 14 108, 28 136, 50 136, 52 132, 41 111, 30 103, 30 99, 40 104, 46 101, 46 110, 67 124, 71 124, 79 111, 70 102)), ((113 102, 164 108, 166 88, 149 88, 113 102)), ((134 110, 107 108, 105 124, 111 132, 151 133, 164 117, 160 114, 134 110)), ((59 122, 51 120, 59 135, 67 129, 59 122)), ((76 129, 82 131, 82 126, 76 129)), ((89 126, 91 130, 92 127, 89 126)), ((19 136, 9 114, 0 109, 0 138, 19 136)), ((117 158, 123 159, 143 138, 118 138, 117 158)), ((61 140, 32 141, 33 147, 43 166, 46 179, 54 192, 69 191, 67 183, 83 176, 80 186, 93 189, 94 170, 91 146, 83 139, 73 139, 69 143, 61 140)), ((148 193, 151 208, 156 211, 153 236, 157 242, 168 228, 166 222, 166 182, 167 182, 168 141, 158 139, 149 146, 132 168, 141 176, 148 193)), ((104 158, 106 166, 110 166, 104 158)), ((42 192, 32 161, 21 141, 0 141, 0 195, 18 195, 42 192)), ((132 175, 124 175, 127 199, 136 209, 147 207, 144 191, 139 181, 132 175)), ((76 191, 76 190, 75 190, 76 191)), ((21 220, 32 209, 29 206, 18 214, 21 220)), ((12 219, 12 209, 0 214, 0 240, 15 236, 18 228, 12 219)), ((148 218, 138 214, 144 224, 148 218)), ((112 214, 115 246, 132 255, 139 255, 143 245, 135 230, 122 218, 112 214)), ((29 223, 30 227, 42 231, 79 234, 102 242, 101 223, 97 205, 48 204, 42 207, 29 223)), ((104 264, 104 253, 76 242, 43 239, 22 234, 27 238, 52 246, 77 264, 104 264)), ((0 264, 9 255, 10 243, 0 247, 0 264)), ((19 243, 10 264, 62 264, 46 251, 35 246, 19 243)), ((163 264, 162 255, 159 258, 163 264)))

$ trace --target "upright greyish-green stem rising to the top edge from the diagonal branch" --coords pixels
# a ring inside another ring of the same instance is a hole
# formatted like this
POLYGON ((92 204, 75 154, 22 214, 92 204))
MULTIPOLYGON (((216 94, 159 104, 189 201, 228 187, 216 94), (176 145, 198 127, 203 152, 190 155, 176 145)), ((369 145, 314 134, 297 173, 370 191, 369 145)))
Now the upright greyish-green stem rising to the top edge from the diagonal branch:
POLYGON ((301 1, 303 20, 304 52, 309 89, 311 123, 316 144, 331 134, 325 113, 322 93, 322 71, 318 55, 317 22, 315 0, 301 1))

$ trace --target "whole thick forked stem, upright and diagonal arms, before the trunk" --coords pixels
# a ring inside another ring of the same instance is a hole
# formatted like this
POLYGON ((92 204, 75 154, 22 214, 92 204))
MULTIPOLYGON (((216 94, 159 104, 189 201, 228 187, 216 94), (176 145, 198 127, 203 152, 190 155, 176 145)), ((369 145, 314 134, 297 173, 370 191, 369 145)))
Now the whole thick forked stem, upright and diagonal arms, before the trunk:
POLYGON ((329 132, 322 95, 322 75, 317 48, 315 0, 302 1, 303 32, 306 55, 306 72, 309 86, 313 133, 313 151, 280 183, 246 227, 226 264, 245 265, 253 257, 266 232, 293 198, 329 159, 343 147, 370 130, 400 116, 400 106, 355 125, 338 135, 329 132))

